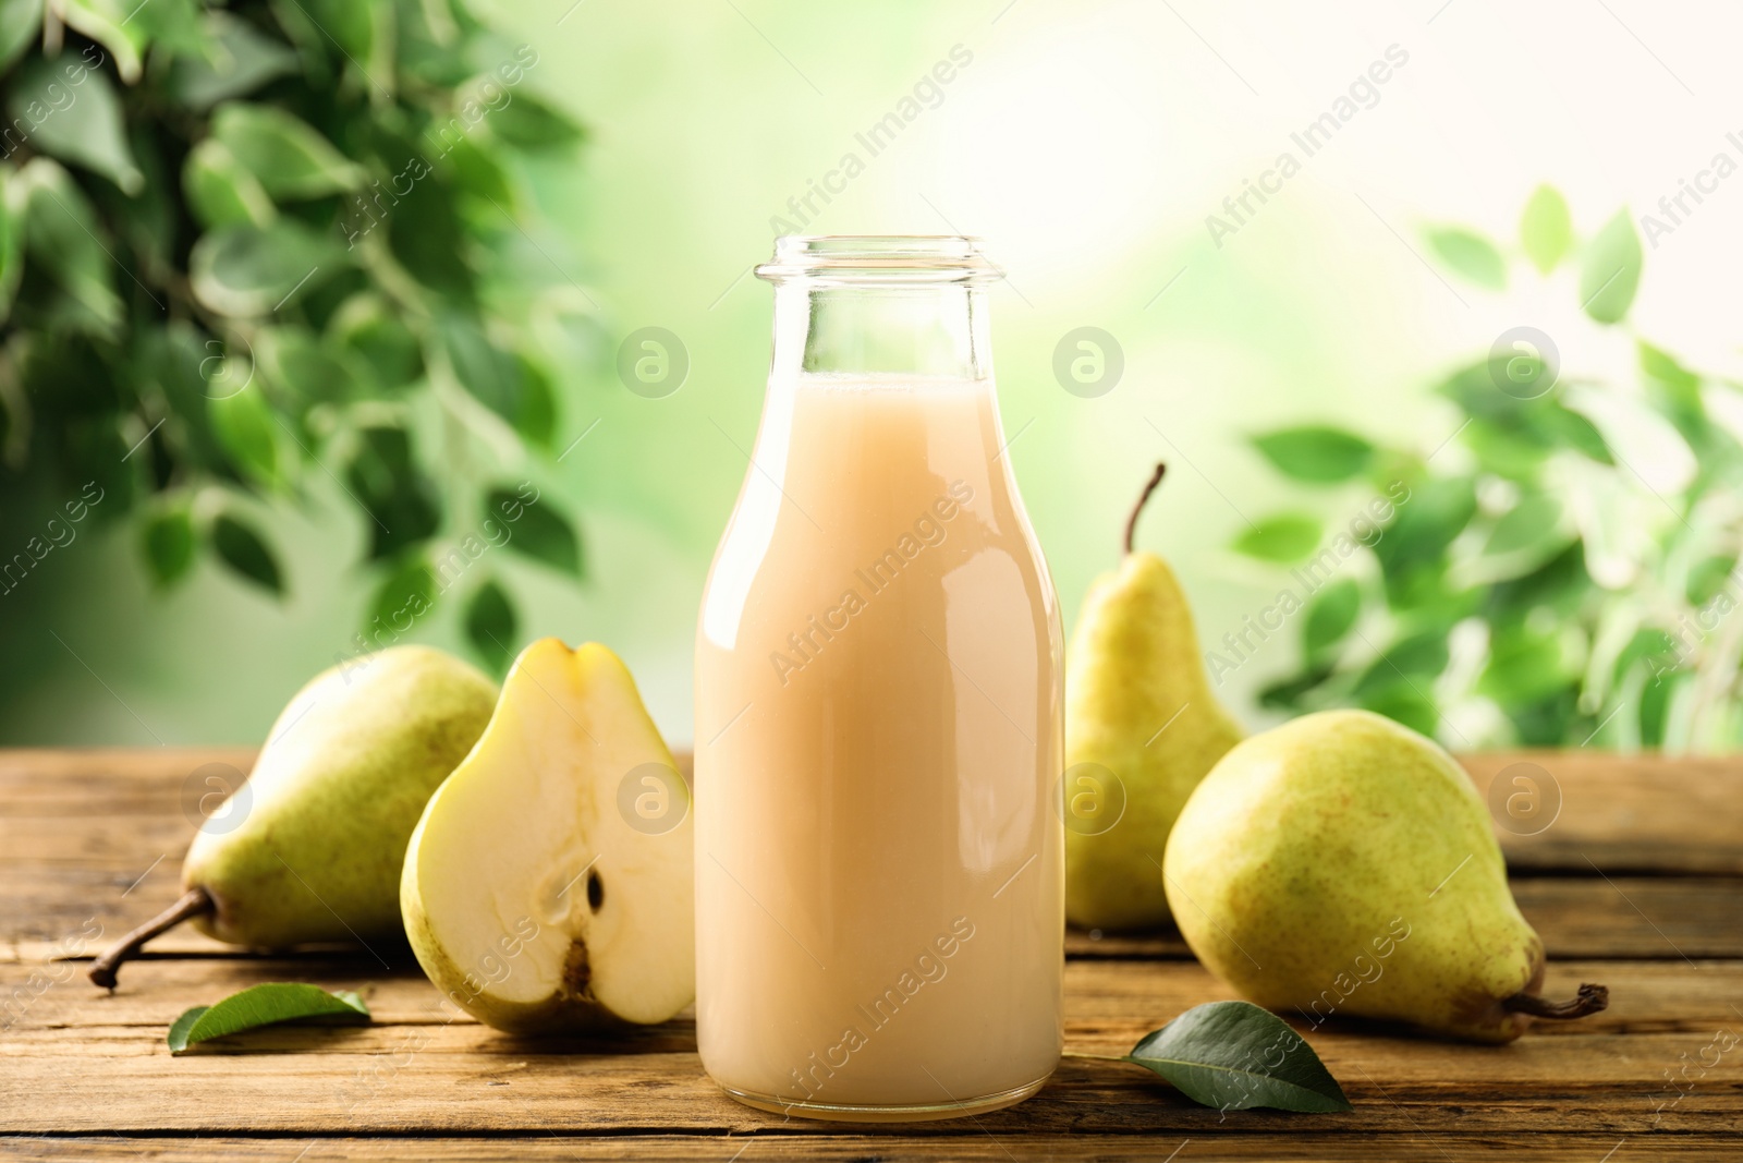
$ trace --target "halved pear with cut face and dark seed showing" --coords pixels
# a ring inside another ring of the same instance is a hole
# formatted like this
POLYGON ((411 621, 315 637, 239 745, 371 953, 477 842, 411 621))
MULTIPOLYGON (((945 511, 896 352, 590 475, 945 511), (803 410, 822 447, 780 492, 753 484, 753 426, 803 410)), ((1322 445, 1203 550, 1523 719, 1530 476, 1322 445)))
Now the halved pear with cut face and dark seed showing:
POLYGON ((424 809, 399 905, 424 971, 511 1032, 664 1022, 695 997, 690 793, 622 661, 526 647, 424 809))

